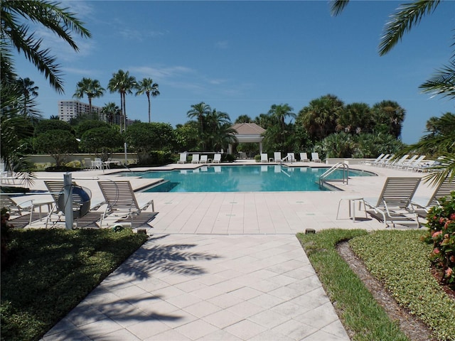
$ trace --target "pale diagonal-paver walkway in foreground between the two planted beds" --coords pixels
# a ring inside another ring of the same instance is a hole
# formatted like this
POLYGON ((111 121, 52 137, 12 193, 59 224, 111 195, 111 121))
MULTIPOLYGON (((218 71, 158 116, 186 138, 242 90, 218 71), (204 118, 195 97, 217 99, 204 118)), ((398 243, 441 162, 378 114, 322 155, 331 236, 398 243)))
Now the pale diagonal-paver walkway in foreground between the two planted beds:
POLYGON ((349 340, 294 235, 156 234, 43 340, 349 340))

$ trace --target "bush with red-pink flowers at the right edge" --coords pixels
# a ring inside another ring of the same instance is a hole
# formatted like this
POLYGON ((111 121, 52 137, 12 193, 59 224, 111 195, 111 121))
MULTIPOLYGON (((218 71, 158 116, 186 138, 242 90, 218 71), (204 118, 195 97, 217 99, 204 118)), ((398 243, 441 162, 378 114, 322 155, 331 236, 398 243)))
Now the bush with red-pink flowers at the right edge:
POLYGON ((434 246, 430 259, 441 269, 441 282, 455 288, 455 192, 440 202, 428 212, 424 241, 434 246))

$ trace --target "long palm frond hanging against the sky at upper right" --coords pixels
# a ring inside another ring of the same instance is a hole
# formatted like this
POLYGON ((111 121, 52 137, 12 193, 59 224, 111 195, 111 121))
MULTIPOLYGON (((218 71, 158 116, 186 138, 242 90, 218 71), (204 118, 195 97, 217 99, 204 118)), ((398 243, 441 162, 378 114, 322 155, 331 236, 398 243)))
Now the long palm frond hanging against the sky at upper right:
POLYGON ((439 2, 440 0, 417 0, 400 6, 397 12, 392 14, 391 20, 385 24, 385 33, 379 44, 379 54, 385 55, 392 50, 403 34, 417 25, 423 16, 432 13, 439 2))

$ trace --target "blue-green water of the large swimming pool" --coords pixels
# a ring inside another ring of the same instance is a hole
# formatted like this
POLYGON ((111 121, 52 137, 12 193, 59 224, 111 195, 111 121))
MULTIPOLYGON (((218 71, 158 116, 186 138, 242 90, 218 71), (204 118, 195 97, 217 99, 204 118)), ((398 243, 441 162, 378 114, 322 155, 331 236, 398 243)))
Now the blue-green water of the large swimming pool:
MULTIPOLYGON (((286 166, 202 166, 193 170, 124 173, 141 178, 164 178, 162 185, 144 192, 287 192, 321 191, 319 176, 328 168, 286 166)), ((373 175, 349 171, 349 177, 373 175)), ((328 179, 343 178, 336 171, 328 179)), ((322 189, 324 190, 324 189, 322 189)))

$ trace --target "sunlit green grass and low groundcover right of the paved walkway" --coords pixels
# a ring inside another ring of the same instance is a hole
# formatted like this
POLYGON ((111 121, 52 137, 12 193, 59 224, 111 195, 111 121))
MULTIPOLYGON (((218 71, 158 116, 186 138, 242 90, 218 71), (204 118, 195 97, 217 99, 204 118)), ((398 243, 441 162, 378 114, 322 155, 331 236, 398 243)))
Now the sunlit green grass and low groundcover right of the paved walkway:
POLYGON ((323 287, 336 302, 340 318, 353 340, 407 340, 360 278, 338 255, 336 244, 350 245, 395 299, 434 330, 438 340, 455 340, 455 303, 430 273, 431 247, 419 241, 422 231, 330 229, 298 234, 323 287))

